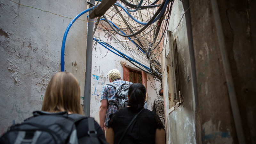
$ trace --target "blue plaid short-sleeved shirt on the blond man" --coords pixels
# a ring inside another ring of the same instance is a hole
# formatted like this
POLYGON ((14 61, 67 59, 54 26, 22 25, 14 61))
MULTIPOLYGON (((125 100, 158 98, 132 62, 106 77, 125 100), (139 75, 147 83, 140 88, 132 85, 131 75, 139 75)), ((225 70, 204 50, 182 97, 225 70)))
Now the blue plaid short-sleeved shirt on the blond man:
MULTIPOLYGON (((116 79, 112 83, 118 86, 121 86, 122 84, 125 83, 125 81, 121 79, 116 79)), ((130 85, 131 84, 132 83, 130 82, 130 85)), ((109 115, 111 114, 113 115, 118 110, 118 107, 117 107, 118 96, 116 95, 116 88, 108 84, 104 85, 101 91, 100 101, 101 100, 108 100, 108 109, 107 109, 106 119, 105 119, 105 123, 107 127, 108 121, 110 120, 109 115)))

